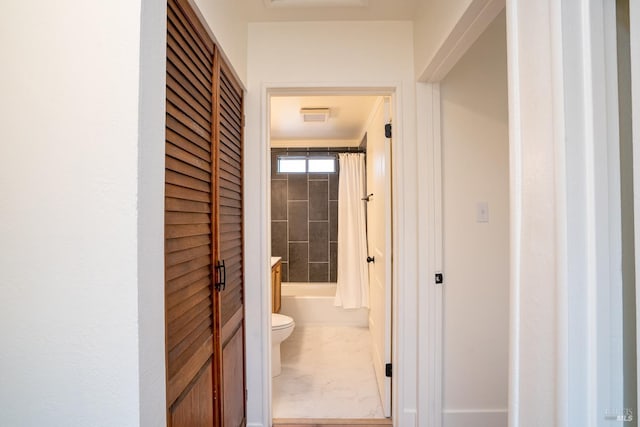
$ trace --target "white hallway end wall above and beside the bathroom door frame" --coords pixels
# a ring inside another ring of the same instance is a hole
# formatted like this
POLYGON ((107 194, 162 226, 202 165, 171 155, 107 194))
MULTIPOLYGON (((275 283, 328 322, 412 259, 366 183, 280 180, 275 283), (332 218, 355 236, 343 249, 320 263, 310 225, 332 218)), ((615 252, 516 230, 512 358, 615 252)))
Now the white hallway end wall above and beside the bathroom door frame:
POLYGON ((396 229, 399 242, 394 368, 395 419, 414 425, 416 412, 416 164, 413 29, 410 22, 300 22, 249 25, 248 102, 245 149, 247 268, 247 354, 249 425, 269 422, 267 351, 269 236, 267 211, 267 88, 385 87, 397 89, 396 229), (260 355, 262 361, 257 360, 260 355), (251 356, 253 355, 253 356, 251 356), (265 362, 266 361, 266 362, 265 362))

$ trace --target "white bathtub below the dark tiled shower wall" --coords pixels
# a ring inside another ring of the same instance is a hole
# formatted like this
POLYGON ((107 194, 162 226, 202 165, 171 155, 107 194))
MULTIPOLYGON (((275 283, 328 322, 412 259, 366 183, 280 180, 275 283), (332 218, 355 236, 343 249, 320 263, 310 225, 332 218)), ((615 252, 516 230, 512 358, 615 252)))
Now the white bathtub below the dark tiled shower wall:
POLYGON ((296 325, 369 326, 367 308, 344 309, 333 305, 335 283, 282 283, 280 313, 296 325))

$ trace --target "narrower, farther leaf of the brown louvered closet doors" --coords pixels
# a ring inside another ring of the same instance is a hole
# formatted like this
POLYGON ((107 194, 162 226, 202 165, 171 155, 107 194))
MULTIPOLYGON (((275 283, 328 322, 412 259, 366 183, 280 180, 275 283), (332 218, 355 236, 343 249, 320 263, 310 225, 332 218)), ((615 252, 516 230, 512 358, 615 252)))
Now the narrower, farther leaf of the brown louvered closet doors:
POLYGON ((243 92, 225 62, 217 62, 217 252, 224 262, 220 293, 219 372, 225 427, 245 424, 244 257, 242 211, 243 92))

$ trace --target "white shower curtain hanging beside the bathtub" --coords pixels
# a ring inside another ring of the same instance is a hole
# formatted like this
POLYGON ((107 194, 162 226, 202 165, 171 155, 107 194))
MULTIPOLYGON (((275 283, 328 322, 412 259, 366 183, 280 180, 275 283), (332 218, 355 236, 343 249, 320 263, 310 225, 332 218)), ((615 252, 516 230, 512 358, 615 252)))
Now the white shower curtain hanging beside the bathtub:
POLYGON ((369 307, 364 154, 340 154, 338 283, 335 305, 369 307))

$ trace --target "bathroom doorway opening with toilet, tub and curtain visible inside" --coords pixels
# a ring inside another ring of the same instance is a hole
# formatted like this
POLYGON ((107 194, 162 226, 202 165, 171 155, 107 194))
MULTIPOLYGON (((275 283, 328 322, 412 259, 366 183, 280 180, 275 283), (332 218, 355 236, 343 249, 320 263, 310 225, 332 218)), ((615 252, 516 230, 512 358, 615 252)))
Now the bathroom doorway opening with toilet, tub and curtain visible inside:
POLYGON ((392 106, 270 93, 274 425, 391 422, 392 106))

